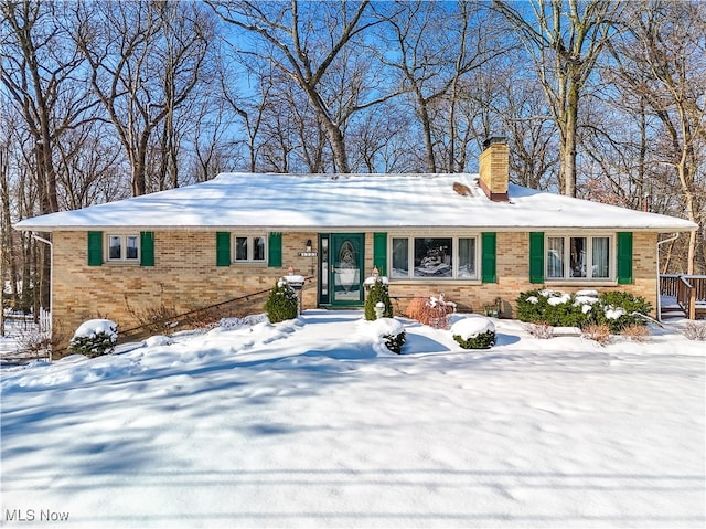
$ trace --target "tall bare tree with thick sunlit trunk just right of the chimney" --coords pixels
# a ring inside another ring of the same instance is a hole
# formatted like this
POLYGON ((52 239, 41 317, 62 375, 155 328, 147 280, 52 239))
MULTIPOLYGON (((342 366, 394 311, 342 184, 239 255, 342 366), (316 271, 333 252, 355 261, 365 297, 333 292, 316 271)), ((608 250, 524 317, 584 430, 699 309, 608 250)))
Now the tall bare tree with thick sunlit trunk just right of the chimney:
POLYGON ((599 55, 616 33, 616 19, 624 3, 532 0, 530 4, 515 8, 507 1, 493 0, 534 62, 559 130, 559 186, 564 194, 575 197, 581 98, 599 55))

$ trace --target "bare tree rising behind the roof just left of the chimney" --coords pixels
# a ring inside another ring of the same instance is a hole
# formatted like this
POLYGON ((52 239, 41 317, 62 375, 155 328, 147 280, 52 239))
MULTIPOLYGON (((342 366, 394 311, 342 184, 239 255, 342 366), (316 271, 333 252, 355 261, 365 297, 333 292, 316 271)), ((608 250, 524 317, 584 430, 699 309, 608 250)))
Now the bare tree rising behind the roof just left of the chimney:
POLYGON ((379 13, 385 25, 378 41, 386 44, 371 47, 410 96, 427 171, 464 169, 469 139, 457 112, 461 99, 470 102, 463 80, 507 50, 493 15, 480 3, 425 1, 396 2, 379 13))

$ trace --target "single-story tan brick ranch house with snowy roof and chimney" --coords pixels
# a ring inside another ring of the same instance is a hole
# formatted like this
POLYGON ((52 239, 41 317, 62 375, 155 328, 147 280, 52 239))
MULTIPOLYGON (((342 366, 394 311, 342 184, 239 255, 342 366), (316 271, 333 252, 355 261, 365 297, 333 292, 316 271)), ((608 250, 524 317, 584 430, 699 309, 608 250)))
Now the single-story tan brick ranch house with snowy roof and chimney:
POLYGON ((224 173, 189 187, 26 219, 51 232, 52 318, 67 332, 133 310, 189 311, 308 276, 302 307, 360 307, 374 272, 396 308, 445 293, 459 309, 523 290, 628 290, 656 306, 660 234, 686 220, 509 183, 491 138, 479 174, 224 173))

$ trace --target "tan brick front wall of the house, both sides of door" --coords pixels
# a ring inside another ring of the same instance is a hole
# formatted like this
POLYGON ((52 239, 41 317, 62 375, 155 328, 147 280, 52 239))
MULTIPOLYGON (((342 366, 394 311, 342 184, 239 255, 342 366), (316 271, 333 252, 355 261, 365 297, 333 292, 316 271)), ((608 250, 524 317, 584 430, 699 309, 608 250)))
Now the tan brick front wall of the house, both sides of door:
MULTIPOLYGON (((265 234, 252 232, 248 234, 265 234)), ((284 233, 282 266, 254 264, 216 266, 215 233, 207 231, 154 232, 154 266, 104 263, 87 265, 86 232, 54 232, 53 325, 60 336, 71 337, 86 319, 104 317, 121 328, 137 325, 133 311, 157 310, 160 306, 184 313, 227 299, 270 288, 291 266, 303 276, 318 275, 317 257, 301 257, 307 240, 318 251, 317 233, 284 233), (313 274, 312 274, 313 273, 313 274), (129 307, 132 307, 132 313, 129 307)), ((584 288, 628 290, 656 305, 655 233, 634 233, 633 284, 547 283, 563 292, 584 288)), ((467 281, 394 281, 391 295, 396 297, 397 314, 404 314, 415 296, 438 295, 459 304, 459 310, 482 311, 484 305, 502 301, 503 316, 513 316, 520 292, 541 288, 531 284, 528 233, 498 233, 498 282, 483 284, 467 281)), ((105 242, 104 242, 105 245, 105 242)), ((373 233, 365 236, 364 277, 373 269, 373 233)), ((304 289, 302 307, 317 306, 317 288, 304 289)))

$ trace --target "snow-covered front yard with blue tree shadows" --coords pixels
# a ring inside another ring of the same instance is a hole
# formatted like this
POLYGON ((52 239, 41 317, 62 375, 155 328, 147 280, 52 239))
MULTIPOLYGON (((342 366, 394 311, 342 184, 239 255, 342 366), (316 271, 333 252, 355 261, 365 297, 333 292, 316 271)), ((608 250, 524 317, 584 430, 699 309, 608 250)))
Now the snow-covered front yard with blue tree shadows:
POLYGON ((404 322, 403 356, 310 310, 3 369, 2 525, 704 527, 703 342, 404 322))

